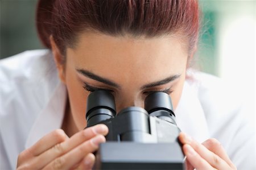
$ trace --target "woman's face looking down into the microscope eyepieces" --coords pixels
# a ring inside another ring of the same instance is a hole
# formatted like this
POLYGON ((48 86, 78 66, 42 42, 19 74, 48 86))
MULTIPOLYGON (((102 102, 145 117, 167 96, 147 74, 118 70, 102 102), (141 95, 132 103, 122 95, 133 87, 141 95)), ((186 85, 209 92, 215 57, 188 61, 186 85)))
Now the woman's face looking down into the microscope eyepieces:
POLYGON ((62 78, 77 129, 86 126, 88 90, 111 90, 117 113, 129 106, 144 107, 146 96, 158 91, 170 94, 176 108, 185 80, 186 49, 171 36, 135 39, 81 34, 76 47, 67 48, 62 78))

